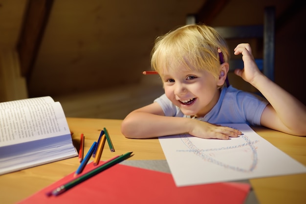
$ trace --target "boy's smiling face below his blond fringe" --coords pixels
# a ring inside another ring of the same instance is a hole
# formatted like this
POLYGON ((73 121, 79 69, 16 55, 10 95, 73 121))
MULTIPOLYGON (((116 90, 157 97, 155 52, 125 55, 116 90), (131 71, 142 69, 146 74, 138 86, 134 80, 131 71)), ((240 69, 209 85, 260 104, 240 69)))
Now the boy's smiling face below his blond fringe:
POLYGON ((219 100, 218 80, 206 70, 192 70, 181 64, 161 73, 166 96, 185 115, 201 117, 219 100))

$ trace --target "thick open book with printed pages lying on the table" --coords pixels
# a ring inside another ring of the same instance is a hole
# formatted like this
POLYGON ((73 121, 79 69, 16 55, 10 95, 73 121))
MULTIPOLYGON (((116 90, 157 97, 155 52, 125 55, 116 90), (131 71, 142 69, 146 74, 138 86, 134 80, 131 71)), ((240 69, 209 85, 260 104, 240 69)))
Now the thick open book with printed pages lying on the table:
POLYGON ((77 155, 59 102, 45 96, 0 103, 0 175, 77 155))

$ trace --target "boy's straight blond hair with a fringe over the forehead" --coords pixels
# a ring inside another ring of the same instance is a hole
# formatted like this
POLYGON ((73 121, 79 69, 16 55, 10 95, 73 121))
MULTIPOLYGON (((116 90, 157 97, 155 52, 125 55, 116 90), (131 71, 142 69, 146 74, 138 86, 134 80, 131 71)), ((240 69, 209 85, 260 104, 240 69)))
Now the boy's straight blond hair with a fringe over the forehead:
POLYGON ((205 69, 217 79, 220 67, 218 48, 224 62, 228 62, 228 47, 214 28, 204 24, 184 25, 156 38, 151 66, 162 73, 183 63, 192 70, 205 69))

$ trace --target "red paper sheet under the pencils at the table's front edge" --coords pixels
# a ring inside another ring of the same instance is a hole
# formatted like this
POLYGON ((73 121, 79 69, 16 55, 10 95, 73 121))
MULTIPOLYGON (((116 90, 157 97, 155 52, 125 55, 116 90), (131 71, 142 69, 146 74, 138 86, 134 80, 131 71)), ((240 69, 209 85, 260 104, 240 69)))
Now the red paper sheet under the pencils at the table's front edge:
MULTIPOLYGON (((94 167, 87 164, 82 174, 94 167)), ((235 182, 176 187, 171 174, 116 164, 59 196, 46 196, 73 174, 19 204, 242 204, 250 190, 249 184, 235 182)))

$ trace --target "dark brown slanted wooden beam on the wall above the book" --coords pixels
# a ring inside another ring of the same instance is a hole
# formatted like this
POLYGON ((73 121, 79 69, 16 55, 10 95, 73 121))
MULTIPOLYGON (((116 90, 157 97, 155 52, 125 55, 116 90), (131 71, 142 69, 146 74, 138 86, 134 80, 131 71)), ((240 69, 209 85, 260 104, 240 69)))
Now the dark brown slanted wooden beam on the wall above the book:
POLYGON ((22 76, 27 79, 35 63, 53 0, 29 0, 17 45, 22 76))

